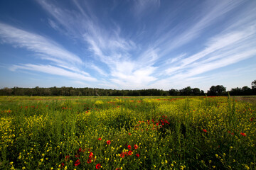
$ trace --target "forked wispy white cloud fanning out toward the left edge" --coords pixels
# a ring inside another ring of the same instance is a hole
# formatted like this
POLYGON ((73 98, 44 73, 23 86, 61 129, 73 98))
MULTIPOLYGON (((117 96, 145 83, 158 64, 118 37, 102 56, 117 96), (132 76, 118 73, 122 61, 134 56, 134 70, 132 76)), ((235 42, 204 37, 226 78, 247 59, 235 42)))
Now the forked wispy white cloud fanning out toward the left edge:
POLYGON ((68 52, 58 43, 43 37, 42 35, 30 33, 26 30, 0 23, 0 38, 3 43, 8 43, 14 47, 21 47, 31 52, 35 52, 35 57, 51 61, 55 64, 55 66, 43 64, 15 64, 9 68, 12 71, 15 71, 16 69, 26 69, 60 75, 72 79, 96 81, 95 78, 90 77, 90 74, 78 69, 78 66, 83 64, 80 57, 74 55, 72 52, 68 52))

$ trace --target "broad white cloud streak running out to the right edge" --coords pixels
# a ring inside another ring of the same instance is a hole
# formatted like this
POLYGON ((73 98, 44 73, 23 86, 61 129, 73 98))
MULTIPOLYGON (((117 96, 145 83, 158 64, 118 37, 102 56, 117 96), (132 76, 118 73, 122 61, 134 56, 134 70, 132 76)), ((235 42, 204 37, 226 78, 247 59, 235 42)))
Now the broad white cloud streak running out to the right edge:
MULTIPOLYGON (((236 23, 234 23, 236 24, 236 23)), ((248 23, 235 30, 224 30, 206 42, 206 48, 179 60, 166 69, 169 80, 190 79, 213 69, 226 67, 256 55, 256 25, 248 23)), ((199 76, 200 77, 200 76, 199 76)), ((206 79, 206 77, 201 77, 206 79)))

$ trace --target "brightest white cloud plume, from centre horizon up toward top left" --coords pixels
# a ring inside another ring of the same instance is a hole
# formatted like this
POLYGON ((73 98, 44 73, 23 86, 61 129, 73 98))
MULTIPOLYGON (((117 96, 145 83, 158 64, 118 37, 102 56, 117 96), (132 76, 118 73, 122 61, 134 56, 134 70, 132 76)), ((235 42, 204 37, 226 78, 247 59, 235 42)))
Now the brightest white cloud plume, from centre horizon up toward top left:
MULTIPOLYGON (((151 76, 155 70, 151 65, 157 58, 154 50, 146 50, 137 57, 138 60, 134 60, 132 52, 137 49, 137 45, 129 37, 122 35, 122 30, 116 23, 107 27, 102 26, 94 13, 84 10, 87 4, 73 2, 78 8, 77 12, 59 8, 49 1, 38 1, 70 37, 85 42, 95 60, 106 64, 108 69, 107 72, 106 69, 103 71, 95 64, 90 68, 104 76, 109 75, 110 81, 121 88, 139 87, 156 80, 151 76)), ((143 4, 141 2, 141 5, 143 4)))

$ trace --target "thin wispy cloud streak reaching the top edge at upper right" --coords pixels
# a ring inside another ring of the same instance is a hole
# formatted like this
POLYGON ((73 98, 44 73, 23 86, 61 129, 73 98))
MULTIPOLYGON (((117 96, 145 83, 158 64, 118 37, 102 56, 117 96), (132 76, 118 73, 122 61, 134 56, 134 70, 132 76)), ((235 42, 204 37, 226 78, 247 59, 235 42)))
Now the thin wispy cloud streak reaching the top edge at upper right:
MULTIPOLYGON (((161 35, 156 40, 154 44, 156 47, 162 47, 161 56, 168 55, 169 52, 176 50, 178 47, 188 44, 189 42, 195 40, 200 35, 206 32, 206 29, 210 26, 213 26, 215 23, 218 23, 225 18, 225 16, 237 8, 242 1, 204 1, 201 6, 196 6, 196 10, 201 10, 201 12, 193 12, 193 16, 188 16, 184 18, 183 21, 173 26, 169 29, 169 26, 160 26, 159 28, 168 28, 161 31, 161 35)), ((181 6, 182 8, 182 6, 181 6)), ((173 21, 172 18, 166 18, 166 20, 173 21)), ((177 16, 178 17, 178 16, 177 16)), ((167 25, 168 23, 165 22, 167 25)))

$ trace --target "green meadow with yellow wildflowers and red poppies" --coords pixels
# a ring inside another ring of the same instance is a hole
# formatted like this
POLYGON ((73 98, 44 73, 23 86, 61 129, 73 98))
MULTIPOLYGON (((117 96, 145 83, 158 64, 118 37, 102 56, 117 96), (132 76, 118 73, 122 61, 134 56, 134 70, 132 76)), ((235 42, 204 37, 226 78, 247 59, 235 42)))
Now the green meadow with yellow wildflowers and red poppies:
POLYGON ((255 110, 228 97, 0 96, 0 169, 256 169, 255 110))

